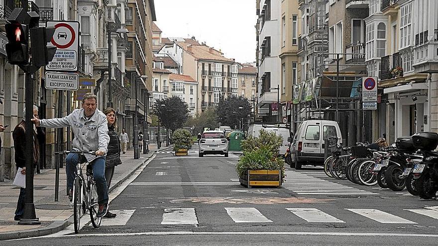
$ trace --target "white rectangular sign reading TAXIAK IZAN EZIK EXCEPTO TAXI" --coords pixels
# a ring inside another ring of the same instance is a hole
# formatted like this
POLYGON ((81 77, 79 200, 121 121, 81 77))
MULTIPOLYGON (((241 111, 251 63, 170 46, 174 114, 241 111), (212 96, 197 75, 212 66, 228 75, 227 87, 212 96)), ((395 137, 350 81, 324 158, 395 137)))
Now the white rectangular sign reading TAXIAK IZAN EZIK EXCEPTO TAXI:
POLYGON ((79 75, 73 73, 46 72, 46 88, 77 90, 79 88, 79 75))

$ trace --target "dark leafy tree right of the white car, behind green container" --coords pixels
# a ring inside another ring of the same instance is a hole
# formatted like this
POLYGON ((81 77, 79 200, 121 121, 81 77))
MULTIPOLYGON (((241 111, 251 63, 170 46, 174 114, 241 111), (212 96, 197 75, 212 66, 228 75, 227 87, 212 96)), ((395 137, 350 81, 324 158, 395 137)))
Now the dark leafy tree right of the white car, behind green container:
POLYGON ((238 128, 242 119, 252 115, 252 106, 244 96, 221 97, 215 111, 220 125, 238 128))

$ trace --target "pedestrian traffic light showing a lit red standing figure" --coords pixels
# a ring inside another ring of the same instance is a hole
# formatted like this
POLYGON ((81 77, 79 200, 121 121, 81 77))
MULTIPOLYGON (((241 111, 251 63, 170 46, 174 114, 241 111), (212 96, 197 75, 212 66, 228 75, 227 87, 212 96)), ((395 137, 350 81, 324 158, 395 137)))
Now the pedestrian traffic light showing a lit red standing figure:
POLYGON ((7 60, 13 65, 26 65, 28 63, 28 32, 27 26, 20 23, 6 23, 5 46, 7 60))

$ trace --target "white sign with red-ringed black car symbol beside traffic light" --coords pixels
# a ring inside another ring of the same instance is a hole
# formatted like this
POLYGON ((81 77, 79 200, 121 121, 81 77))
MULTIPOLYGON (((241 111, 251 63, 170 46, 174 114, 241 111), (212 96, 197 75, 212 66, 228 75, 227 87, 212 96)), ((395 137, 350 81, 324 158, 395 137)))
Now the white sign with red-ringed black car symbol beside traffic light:
POLYGON ((57 50, 46 70, 77 71, 79 50, 79 22, 77 21, 47 21, 46 26, 54 26, 55 33, 51 44, 57 50))

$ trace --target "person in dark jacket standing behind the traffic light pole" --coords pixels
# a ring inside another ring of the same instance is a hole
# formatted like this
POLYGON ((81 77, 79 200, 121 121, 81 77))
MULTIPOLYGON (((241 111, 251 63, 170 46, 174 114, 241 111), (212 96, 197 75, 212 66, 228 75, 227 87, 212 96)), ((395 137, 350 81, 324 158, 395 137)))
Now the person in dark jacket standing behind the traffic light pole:
MULTIPOLYGON (((26 174, 26 122, 24 121, 26 109, 23 109, 23 120, 15 127, 12 132, 15 149, 15 165, 21 169, 21 174, 26 174)), ((33 117, 38 118, 38 107, 33 106, 33 117)), ((33 130, 33 165, 36 166, 39 162, 39 144, 44 142, 46 134, 41 127, 36 127, 33 130)), ((19 221, 24 213, 25 188, 20 187, 18 195, 17 209, 15 210, 14 220, 19 221)))

